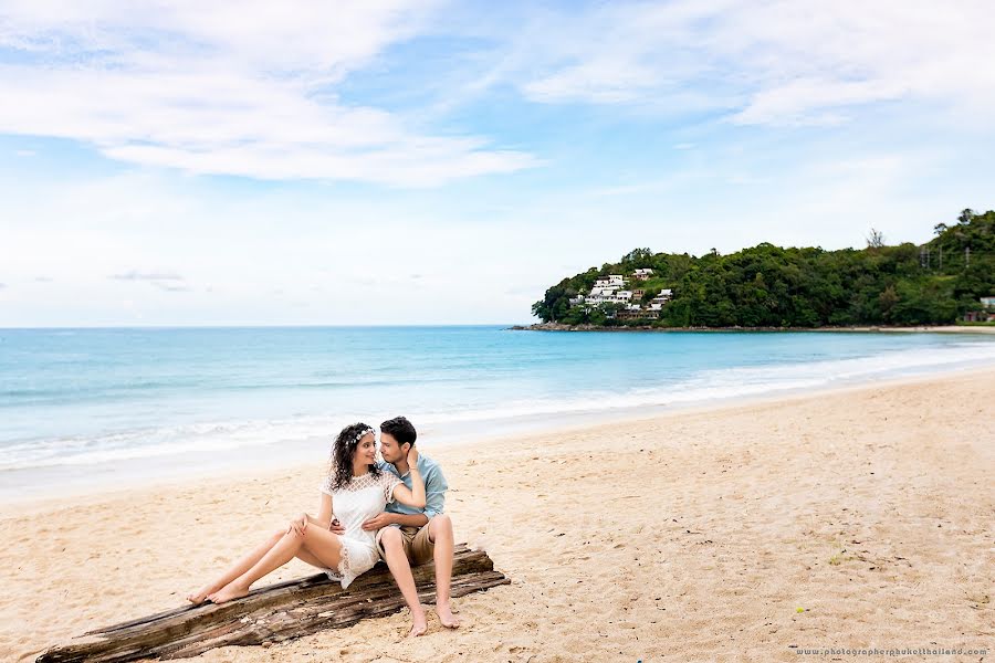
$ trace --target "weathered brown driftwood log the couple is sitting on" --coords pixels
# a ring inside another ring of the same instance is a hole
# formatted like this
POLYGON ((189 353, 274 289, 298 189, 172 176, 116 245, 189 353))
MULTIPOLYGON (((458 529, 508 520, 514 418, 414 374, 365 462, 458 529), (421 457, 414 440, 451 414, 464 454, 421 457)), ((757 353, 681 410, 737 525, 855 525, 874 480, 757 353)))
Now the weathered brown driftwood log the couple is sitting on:
MULTIPOLYGON (((431 564, 411 569, 422 602, 433 602, 431 564)), ((511 582, 494 570, 482 550, 458 546, 452 565, 452 596, 461 597, 511 582)), ((186 606, 90 631, 38 657, 53 661, 135 661, 184 659, 217 646, 281 642, 323 629, 341 629, 367 617, 383 617, 405 604, 387 566, 376 567, 342 589, 324 573, 252 590, 242 599, 214 606, 186 606)))

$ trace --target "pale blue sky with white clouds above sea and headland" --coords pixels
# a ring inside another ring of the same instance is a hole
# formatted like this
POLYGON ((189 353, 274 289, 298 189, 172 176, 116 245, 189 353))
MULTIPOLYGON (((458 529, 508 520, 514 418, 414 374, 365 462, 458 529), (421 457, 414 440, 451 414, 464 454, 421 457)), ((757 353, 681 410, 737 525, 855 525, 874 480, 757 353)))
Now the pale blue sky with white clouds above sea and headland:
POLYGON ((988 0, 0 0, 0 326, 531 322, 995 209, 988 0))

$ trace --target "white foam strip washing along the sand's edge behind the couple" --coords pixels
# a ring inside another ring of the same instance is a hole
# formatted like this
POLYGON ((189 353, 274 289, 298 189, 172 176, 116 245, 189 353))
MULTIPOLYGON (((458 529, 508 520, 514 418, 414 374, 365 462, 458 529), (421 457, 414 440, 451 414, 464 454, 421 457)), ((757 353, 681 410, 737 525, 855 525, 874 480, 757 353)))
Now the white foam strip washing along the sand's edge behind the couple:
MULTIPOLYGON (((708 403, 784 391, 806 391, 841 383, 995 364, 995 343, 892 350, 851 359, 776 366, 706 369, 666 385, 625 392, 586 391, 574 398, 509 399, 459 411, 427 408, 408 417, 437 431, 474 421, 502 421, 555 414, 708 403)), ((32 440, 0 448, 0 471, 115 463, 186 453, 222 453, 325 438, 345 424, 375 421, 367 413, 335 417, 244 420, 125 431, 95 436, 32 440)))

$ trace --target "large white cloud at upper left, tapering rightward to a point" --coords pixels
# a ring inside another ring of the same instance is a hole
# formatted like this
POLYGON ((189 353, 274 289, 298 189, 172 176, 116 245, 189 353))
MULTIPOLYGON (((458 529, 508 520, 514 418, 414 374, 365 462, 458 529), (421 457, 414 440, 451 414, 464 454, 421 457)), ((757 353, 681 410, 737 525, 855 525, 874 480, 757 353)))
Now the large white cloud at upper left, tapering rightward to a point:
POLYGON ((335 84, 412 36, 432 3, 14 2, 0 45, 0 133, 83 140, 195 173, 431 186, 510 172, 530 155, 423 135, 343 102, 335 84))

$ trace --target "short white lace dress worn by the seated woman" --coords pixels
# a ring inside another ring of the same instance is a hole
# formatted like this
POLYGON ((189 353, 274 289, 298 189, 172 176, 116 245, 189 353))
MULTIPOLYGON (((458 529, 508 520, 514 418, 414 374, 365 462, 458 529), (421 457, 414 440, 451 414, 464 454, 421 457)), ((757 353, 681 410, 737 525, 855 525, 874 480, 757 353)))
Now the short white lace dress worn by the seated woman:
POLYGON ((345 527, 338 569, 326 569, 325 572, 333 580, 341 580, 343 589, 377 564, 377 533, 363 529, 363 523, 394 502, 394 488, 400 483, 390 472, 380 472, 379 476, 354 476, 345 486, 332 490, 332 476, 325 477, 321 491, 332 495, 334 517, 345 527))

